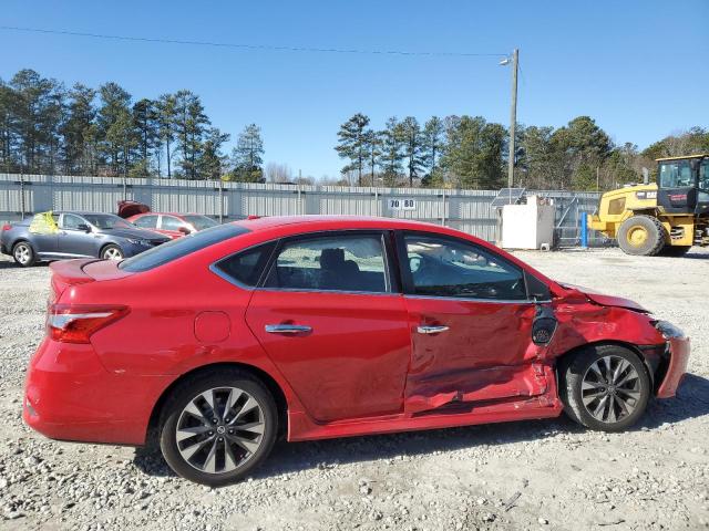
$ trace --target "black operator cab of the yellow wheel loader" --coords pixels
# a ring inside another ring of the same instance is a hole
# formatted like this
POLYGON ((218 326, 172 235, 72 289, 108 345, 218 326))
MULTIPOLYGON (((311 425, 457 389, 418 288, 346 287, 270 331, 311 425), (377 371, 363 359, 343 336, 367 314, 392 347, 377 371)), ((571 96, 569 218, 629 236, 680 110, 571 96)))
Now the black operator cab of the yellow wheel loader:
POLYGON ((657 206, 665 214, 709 212, 709 156, 661 158, 657 163, 657 206))

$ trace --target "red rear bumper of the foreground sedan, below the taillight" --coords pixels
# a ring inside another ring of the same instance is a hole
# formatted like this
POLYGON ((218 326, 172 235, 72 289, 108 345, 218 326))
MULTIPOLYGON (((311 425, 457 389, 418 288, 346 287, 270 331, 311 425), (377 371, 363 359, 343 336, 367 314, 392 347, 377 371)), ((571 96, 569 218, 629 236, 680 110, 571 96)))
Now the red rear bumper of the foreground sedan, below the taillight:
POLYGON ((52 439, 143 445, 165 379, 111 373, 92 345, 45 339, 28 368, 22 418, 52 439))

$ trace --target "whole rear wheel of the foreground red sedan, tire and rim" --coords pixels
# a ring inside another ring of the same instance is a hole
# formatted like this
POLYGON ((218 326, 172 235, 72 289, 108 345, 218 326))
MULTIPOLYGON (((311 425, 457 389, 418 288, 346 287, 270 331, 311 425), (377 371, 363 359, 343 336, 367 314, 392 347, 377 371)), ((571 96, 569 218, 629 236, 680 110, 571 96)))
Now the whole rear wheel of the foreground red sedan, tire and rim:
POLYGON ((220 369, 186 381, 163 409, 160 445, 183 478, 218 487, 243 479, 269 454, 276 403, 250 374, 220 369))

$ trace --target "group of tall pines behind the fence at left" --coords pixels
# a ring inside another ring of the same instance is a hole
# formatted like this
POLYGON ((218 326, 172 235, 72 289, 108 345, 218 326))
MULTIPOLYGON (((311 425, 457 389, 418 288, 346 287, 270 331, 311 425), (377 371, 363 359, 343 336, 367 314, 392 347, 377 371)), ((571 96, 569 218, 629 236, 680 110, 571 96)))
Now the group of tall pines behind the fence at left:
POLYGON ((186 179, 263 180, 260 128, 247 125, 230 156, 188 90, 134 100, 119 84, 99 88, 21 70, 0 80, 0 170, 186 179))

